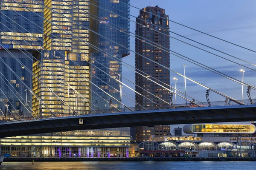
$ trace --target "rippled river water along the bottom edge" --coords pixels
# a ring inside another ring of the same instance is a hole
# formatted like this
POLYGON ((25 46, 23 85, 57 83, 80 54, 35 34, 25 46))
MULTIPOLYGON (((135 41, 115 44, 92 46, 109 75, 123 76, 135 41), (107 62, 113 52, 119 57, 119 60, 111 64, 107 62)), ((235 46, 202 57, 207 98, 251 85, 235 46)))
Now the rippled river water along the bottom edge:
POLYGON ((3 162, 0 170, 256 170, 256 161, 3 162))

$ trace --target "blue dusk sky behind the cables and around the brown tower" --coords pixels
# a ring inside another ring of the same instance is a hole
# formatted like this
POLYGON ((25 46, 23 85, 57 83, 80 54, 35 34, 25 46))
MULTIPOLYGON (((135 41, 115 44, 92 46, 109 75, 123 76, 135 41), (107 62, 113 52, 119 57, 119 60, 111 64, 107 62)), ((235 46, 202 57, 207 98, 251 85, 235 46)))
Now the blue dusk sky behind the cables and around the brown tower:
MULTIPOLYGON (((198 29, 200 31, 204 31, 224 40, 228 40, 246 48, 250 48, 254 51, 256 50, 255 0, 131 0, 131 5, 136 6, 137 8, 158 5, 160 8, 164 8, 166 10, 166 14, 169 15, 170 20, 198 29)), ((131 15, 137 17, 138 14, 139 10, 131 7, 131 15)), ((131 17, 131 20, 135 21, 135 18, 131 17)), ((196 31, 189 30, 188 28, 178 26, 175 23, 170 23, 170 30, 190 39, 209 45, 213 48, 217 48, 220 51, 224 51, 228 54, 256 64, 256 54, 253 52, 244 50, 234 45, 230 45, 220 40, 216 40, 196 31)), ((131 22, 131 32, 135 32, 135 24, 133 22, 131 22)), ((189 42, 184 38, 178 37, 177 35, 171 35, 180 40, 189 42)), ((197 45, 193 42, 189 43, 197 45)), ((207 49, 202 45, 197 46, 207 49)), ((239 71, 241 68, 243 68, 242 66, 236 65, 224 59, 220 59, 211 54, 207 54, 206 52, 200 51, 194 47, 173 39, 170 40, 170 49, 177 53, 183 54, 186 57, 201 62, 209 67, 215 68, 216 70, 230 75, 236 79, 241 80, 242 78, 242 73, 239 71)), ((135 39, 133 37, 131 38, 131 50, 135 50, 135 39)), ((252 65, 245 64, 244 62, 225 56, 219 52, 210 49, 207 50, 226 57, 232 61, 238 62, 242 65, 253 68, 252 65)), ((135 66, 134 56, 135 54, 131 52, 131 55, 125 57, 123 61, 135 66)), ((184 61, 183 59, 172 55, 170 56, 171 69, 183 74, 183 64, 187 64, 186 76, 195 79, 196 81, 205 85, 208 85, 209 87, 214 88, 215 90, 227 94, 235 99, 241 99, 241 85, 238 83, 218 76, 217 74, 213 74, 212 72, 184 61)), ((251 85, 256 85, 255 72, 246 68, 243 69, 246 71, 244 73, 244 82, 247 82, 251 85)), ((135 82, 134 72, 125 67, 123 67, 123 76, 135 82)), ((177 89, 184 91, 184 78, 179 77, 171 72, 171 85, 173 86, 175 86, 175 81, 172 79, 173 77, 177 77, 179 79, 177 81, 177 89)), ((123 80, 123 82, 125 81, 123 80)), ((128 82, 125 83, 134 88, 134 85, 131 85, 128 82)), ((196 99, 205 102, 205 91, 206 89, 201 88, 195 83, 187 81, 188 95, 191 95, 196 99)), ((244 99, 247 99, 245 91, 246 88, 244 88, 244 99)), ((131 90, 124 88, 123 92, 134 99, 135 93, 131 90)), ((252 91, 251 96, 253 99, 256 99, 256 92, 252 91)), ((209 99, 210 101, 223 101, 224 97, 211 93, 209 99)), ((123 102, 130 107, 134 107, 134 103, 130 102, 128 99, 123 98, 123 102)), ((184 99, 177 97, 176 103, 184 102, 184 99)), ((173 127, 177 126, 172 126, 172 128, 173 127)))

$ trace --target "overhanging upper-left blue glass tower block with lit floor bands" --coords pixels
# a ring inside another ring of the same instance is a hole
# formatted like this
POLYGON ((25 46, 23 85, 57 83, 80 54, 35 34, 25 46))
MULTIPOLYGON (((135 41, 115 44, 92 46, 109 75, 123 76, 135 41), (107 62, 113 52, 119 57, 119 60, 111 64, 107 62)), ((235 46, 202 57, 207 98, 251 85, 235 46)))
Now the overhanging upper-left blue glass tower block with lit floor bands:
POLYGON ((42 4, 43 0, 1 0, 2 49, 43 49, 42 4))

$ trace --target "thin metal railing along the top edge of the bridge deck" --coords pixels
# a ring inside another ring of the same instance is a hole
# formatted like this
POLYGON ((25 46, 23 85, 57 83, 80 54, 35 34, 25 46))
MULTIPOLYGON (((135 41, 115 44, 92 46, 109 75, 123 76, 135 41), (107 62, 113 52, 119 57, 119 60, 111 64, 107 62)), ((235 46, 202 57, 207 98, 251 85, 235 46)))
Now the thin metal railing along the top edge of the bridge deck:
MULTIPOLYGON (((239 100, 239 102, 244 103, 245 105, 251 105, 250 100, 239 100)), ((253 105, 256 104, 256 99, 253 99, 253 105)), ((32 116, 25 116, 22 119, 8 119, 4 114, 0 115, 0 123, 3 122, 14 122, 14 121, 27 121, 32 119, 49 119, 54 117, 65 117, 65 116, 79 116, 79 115, 91 115, 91 114, 104 114, 104 113, 119 113, 119 112, 131 112, 131 111, 152 111, 152 110, 163 110, 163 109, 183 109, 183 108, 204 108, 204 107, 214 107, 214 106, 228 106, 228 105, 239 105, 233 101, 217 101, 217 102, 200 102, 200 103, 188 103, 186 104, 176 104, 176 105, 154 105, 154 106, 140 106, 137 105, 133 108, 112 108, 112 109, 104 109, 104 110, 96 110, 96 111, 79 111, 73 112, 71 114, 56 114, 57 116, 38 116, 38 118, 34 118, 32 116)))

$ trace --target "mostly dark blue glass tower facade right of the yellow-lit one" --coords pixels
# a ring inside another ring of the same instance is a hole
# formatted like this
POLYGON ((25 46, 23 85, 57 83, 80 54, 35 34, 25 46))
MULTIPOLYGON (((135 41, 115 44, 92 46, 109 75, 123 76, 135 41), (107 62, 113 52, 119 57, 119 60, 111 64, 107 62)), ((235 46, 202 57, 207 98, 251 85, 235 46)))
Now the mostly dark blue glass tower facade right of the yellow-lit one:
POLYGON ((109 109, 110 99, 113 107, 121 107, 120 84, 117 80, 122 81, 122 57, 130 53, 130 6, 126 4, 130 4, 130 0, 100 0, 98 4, 100 51, 91 54, 93 60, 97 61, 92 64, 92 82, 95 83, 92 90, 96 92, 92 93, 94 110, 109 109))

